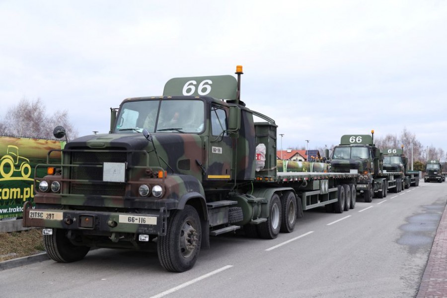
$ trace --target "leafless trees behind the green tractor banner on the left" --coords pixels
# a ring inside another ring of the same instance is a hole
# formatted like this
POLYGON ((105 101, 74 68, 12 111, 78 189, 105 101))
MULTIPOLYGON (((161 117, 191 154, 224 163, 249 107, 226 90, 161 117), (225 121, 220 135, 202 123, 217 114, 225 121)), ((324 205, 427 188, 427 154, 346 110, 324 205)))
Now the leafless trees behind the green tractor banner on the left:
POLYGON ((57 111, 54 115, 46 115, 45 111, 40 98, 35 101, 23 98, 15 107, 8 109, 0 124, 0 132, 14 137, 54 139, 54 127, 64 125, 71 138, 77 136, 77 131, 69 122, 67 111, 57 111))

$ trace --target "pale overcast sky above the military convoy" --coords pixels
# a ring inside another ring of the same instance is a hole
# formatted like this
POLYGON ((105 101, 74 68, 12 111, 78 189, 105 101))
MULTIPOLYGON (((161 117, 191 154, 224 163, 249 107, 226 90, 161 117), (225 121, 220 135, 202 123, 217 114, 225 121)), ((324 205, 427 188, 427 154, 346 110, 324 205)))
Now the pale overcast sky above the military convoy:
POLYGON ((0 120, 21 99, 78 136, 172 77, 234 75, 278 149, 403 129, 447 151, 446 0, 0 0, 0 120))

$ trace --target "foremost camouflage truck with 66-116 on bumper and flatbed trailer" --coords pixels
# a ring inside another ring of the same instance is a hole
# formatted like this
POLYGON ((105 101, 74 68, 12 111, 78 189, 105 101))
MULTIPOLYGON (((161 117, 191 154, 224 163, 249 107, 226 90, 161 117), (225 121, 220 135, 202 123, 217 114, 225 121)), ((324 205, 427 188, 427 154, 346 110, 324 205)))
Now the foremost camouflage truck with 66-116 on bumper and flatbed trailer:
POLYGON ((48 255, 73 262, 91 247, 156 248, 166 270, 182 272, 210 236, 272 239, 292 232, 302 210, 354 208, 358 174, 278 168, 277 125, 240 101, 241 67, 236 74, 173 78, 162 96, 125 99, 111 109, 109 134, 75 139, 60 164, 38 165, 47 175, 35 177, 23 223, 44 228, 48 255))

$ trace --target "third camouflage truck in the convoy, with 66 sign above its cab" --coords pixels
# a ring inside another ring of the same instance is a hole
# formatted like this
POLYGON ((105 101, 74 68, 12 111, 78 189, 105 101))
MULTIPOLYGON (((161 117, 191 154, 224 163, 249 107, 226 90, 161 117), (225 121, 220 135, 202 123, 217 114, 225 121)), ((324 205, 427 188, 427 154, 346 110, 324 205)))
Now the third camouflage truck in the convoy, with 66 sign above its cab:
POLYGON ((383 171, 387 173, 404 173, 401 190, 419 185, 419 171, 412 171, 408 166, 408 157, 401 149, 388 148, 383 153, 383 171))

